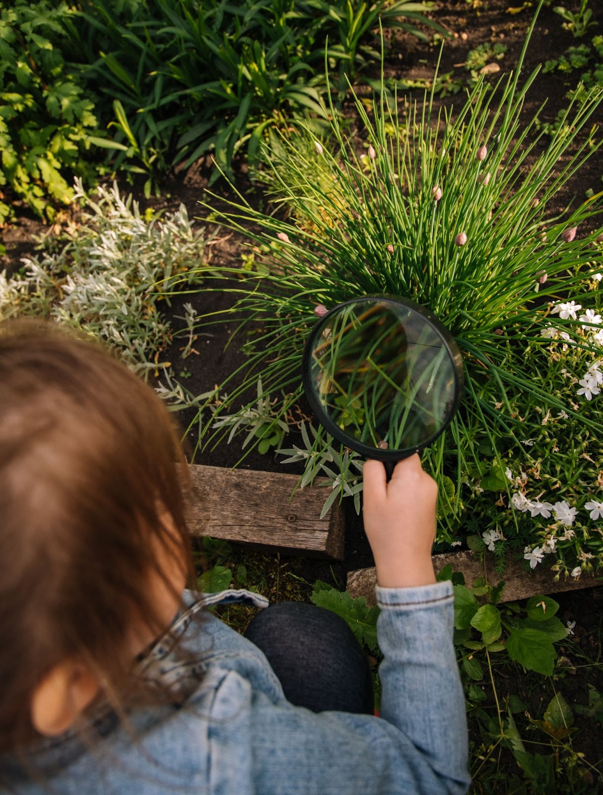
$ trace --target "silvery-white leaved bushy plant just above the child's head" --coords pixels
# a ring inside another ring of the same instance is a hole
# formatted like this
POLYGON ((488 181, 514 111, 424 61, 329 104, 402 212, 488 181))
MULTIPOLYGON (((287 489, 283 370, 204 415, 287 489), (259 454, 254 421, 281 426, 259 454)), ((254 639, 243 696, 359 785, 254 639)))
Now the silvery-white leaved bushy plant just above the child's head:
POLYGON ((161 291, 189 270, 198 273, 207 258, 205 231, 193 231, 184 205, 163 218, 141 215, 116 184, 92 197, 76 181, 78 200, 83 217, 63 238, 43 241, 41 254, 25 258, 21 271, 0 273, 0 320, 48 317, 78 328, 147 378, 169 366, 160 359, 172 340, 161 291))

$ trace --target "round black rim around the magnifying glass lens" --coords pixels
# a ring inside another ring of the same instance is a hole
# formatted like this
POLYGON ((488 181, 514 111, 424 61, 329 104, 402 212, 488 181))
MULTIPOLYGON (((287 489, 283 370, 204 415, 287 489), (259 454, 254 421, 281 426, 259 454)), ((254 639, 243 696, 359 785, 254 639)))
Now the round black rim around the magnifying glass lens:
POLYGON ((457 343, 454 342, 454 337, 450 334, 446 326, 444 326, 438 320, 433 312, 421 306, 420 304, 416 304, 415 301, 408 301, 407 298, 385 294, 350 298, 349 301, 342 301, 341 304, 337 304, 337 306, 334 306, 332 309, 330 309, 325 315, 323 315, 323 317, 319 318, 314 328, 312 328, 312 331, 306 340, 306 344, 303 347, 302 382, 303 390, 306 393, 306 397, 311 405, 311 409, 314 412, 316 419, 319 421, 320 425, 322 425, 323 428, 330 433, 331 436, 334 436, 334 438, 338 440, 338 442, 341 442, 351 450, 360 453, 362 456, 366 456, 366 458, 373 458, 379 461, 400 461, 403 458, 412 456, 413 453, 419 452, 419 450, 429 447, 429 445, 432 444, 450 425, 450 422, 457 413, 458 406, 462 401, 465 386, 465 372, 462 363, 461 351, 458 350, 457 343), (454 400, 452 408, 450 409, 449 417, 438 431, 432 434, 423 442, 423 444, 420 444, 418 447, 405 448, 403 450, 382 450, 381 448, 369 447, 368 444, 358 442, 358 440, 355 440, 346 432, 342 431, 342 429, 330 419, 327 412, 323 409, 323 405, 320 403, 318 397, 316 397, 315 389, 312 385, 311 379, 311 365, 312 351, 315 348, 315 343, 319 334, 322 334, 323 329, 330 318, 339 312, 343 307, 349 306, 350 304, 365 303, 367 301, 374 301, 375 303, 379 304, 392 304, 393 306, 401 305, 404 308, 410 309, 412 312, 416 312, 417 314, 423 316, 424 320, 427 321, 436 334, 439 335, 439 337, 441 337, 443 340, 444 347, 446 347, 446 351, 448 352, 450 360, 453 364, 454 400))

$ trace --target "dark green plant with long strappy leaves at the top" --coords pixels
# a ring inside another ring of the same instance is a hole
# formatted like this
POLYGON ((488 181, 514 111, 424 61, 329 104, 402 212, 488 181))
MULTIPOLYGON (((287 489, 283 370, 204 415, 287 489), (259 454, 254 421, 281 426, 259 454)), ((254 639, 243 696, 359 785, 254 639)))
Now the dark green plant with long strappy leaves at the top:
POLYGON ((117 117, 114 166, 145 173, 150 191, 153 176, 208 152, 230 175, 243 148, 253 165, 274 126, 323 116, 327 39, 334 68, 354 74, 376 56, 368 40, 380 19, 423 36, 416 25, 440 29, 425 16, 430 7, 407 0, 95 0, 83 4, 76 26, 79 60, 91 64, 91 85, 106 94, 104 120, 110 107, 117 117))

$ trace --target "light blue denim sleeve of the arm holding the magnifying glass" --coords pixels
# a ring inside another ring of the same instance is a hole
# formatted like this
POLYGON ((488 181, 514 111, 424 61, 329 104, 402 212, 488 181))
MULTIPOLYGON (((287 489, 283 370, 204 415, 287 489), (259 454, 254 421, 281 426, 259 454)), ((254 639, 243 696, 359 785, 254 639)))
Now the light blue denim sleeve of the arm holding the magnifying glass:
POLYGON ((450 583, 377 588, 381 717, 251 709, 251 780, 257 795, 462 795, 465 700, 452 643, 450 583))

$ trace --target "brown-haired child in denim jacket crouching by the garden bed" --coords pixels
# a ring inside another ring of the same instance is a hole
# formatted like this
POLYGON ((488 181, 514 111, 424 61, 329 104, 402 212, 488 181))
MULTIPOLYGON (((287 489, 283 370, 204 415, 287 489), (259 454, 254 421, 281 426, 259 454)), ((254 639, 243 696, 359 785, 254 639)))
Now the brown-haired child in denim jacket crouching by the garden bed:
POLYGON ((380 718, 334 614, 268 607, 245 638, 203 608, 265 599, 184 590, 186 467, 153 390, 55 326, 0 325, 3 791, 466 792, 437 488, 418 456, 364 477, 380 718))

